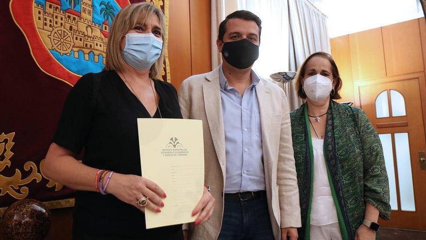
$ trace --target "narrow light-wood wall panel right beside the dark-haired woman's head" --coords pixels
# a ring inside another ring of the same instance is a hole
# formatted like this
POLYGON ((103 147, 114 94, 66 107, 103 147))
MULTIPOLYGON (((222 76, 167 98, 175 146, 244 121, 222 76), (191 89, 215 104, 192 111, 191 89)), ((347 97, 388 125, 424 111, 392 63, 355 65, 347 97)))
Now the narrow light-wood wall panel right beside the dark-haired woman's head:
POLYGON ((339 69, 340 78, 342 79, 342 88, 340 90, 342 99, 337 101, 354 102, 349 35, 332 38, 330 44, 333 59, 335 60, 337 68, 339 69))

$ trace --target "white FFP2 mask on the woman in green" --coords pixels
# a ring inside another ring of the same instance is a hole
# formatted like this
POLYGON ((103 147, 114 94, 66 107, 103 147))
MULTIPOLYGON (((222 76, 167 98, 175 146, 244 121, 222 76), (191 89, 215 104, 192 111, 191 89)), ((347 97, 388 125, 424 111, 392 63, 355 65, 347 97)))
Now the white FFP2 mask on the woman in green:
POLYGON ((310 100, 318 102, 330 94, 333 89, 333 81, 317 74, 304 80, 303 89, 310 100))

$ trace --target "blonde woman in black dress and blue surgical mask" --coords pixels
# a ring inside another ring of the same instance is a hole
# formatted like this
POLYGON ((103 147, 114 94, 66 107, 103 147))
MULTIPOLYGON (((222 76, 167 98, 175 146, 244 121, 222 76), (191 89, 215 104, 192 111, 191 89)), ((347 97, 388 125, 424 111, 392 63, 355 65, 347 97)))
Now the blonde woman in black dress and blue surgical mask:
MULTIPOLYGON (((141 176, 137 118, 182 118, 176 89, 156 80, 164 41, 160 9, 126 6, 112 23, 104 71, 81 77, 66 99, 43 171, 77 190, 75 240, 183 239, 181 224, 146 229, 144 219, 145 211, 161 214, 167 195, 141 176)), ((213 206, 205 189, 192 212, 200 213, 196 224, 210 218, 213 206)))

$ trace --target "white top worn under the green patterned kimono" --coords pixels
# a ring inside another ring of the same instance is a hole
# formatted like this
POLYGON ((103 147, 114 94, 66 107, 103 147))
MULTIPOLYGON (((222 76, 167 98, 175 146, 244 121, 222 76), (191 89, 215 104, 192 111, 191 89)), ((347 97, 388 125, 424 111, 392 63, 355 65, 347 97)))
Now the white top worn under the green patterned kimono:
POLYGON ((324 159, 324 140, 312 139, 314 152, 314 191, 312 194, 311 223, 326 225, 337 223, 336 206, 328 182, 324 159))

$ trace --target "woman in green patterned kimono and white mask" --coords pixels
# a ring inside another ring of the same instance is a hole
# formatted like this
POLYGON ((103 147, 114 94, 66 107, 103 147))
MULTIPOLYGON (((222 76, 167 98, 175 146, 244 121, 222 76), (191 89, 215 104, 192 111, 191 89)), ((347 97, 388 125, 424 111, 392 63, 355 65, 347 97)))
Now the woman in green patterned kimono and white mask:
POLYGON ((303 240, 374 240, 390 217, 389 183, 379 136, 364 111, 339 104, 333 58, 309 56, 296 77, 306 99, 290 113, 303 240))

